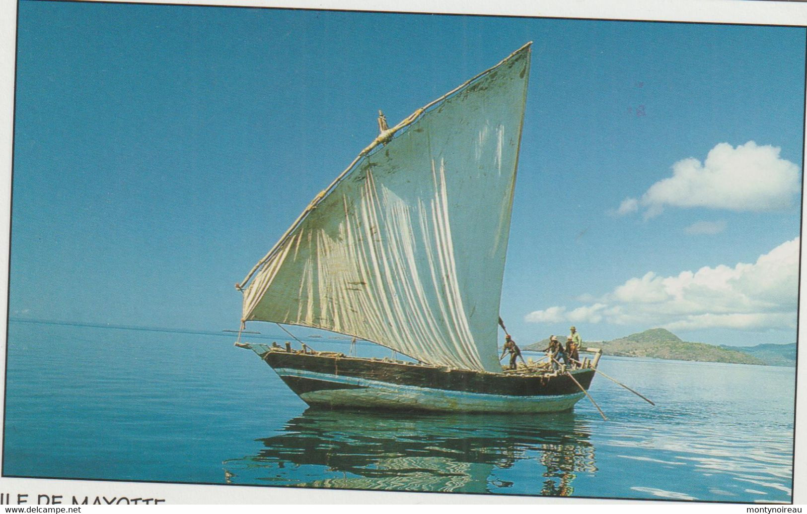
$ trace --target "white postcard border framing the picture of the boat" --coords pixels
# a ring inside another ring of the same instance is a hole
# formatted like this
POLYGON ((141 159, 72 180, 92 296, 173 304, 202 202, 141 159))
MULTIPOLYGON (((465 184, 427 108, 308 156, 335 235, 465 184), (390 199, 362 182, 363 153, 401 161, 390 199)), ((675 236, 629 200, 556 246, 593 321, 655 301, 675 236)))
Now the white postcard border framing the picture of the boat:
MULTIPOLYGON (((174 0, 174 3, 215 6, 274 6, 308 9, 380 10, 441 14, 517 15, 549 18, 635 19, 677 22, 749 23, 807 26, 807 4, 751 0, 174 0)), ((8 242, 12 114, 15 73, 16 1, 0 0, 0 370, 5 370, 8 283, 8 242)), ((805 142, 807 147, 807 142, 805 142)), ((802 205, 804 209, 804 205, 802 205)), ((802 210, 802 213, 804 211, 802 210)), ((803 217, 802 217, 803 218, 803 217)), ((804 232, 804 226, 802 226, 804 232)), ((807 292, 807 255, 802 254, 802 296, 807 292)), ((805 302, 807 305, 807 302, 805 302)), ((800 315, 800 321, 801 321, 800 315)), ((800 322, 799 341, 807 339, 800 322)), ((807 346, 801 345, 797 383, 797 448, 793 500, 807 504, 807 346)), ((2 384, 0 384, 2 391, 2 384)), ((93 482, 82 480, 0 479, 0 492, 36 495, 157 497, 168 504, 654 504, 642 500, 558 499, 504 495, 458 495, 389 491, 335 491, 288 487, 199 486, 162 483, 93 482)), ((688 502, 689 503, 689 502, 688 502)), ((660 505, 659 505, 660 506, 660 505)), ((693 505, 692 508, 695 508, 693 505)), ((746 512, 736 505, 735 512, 746 512)))

